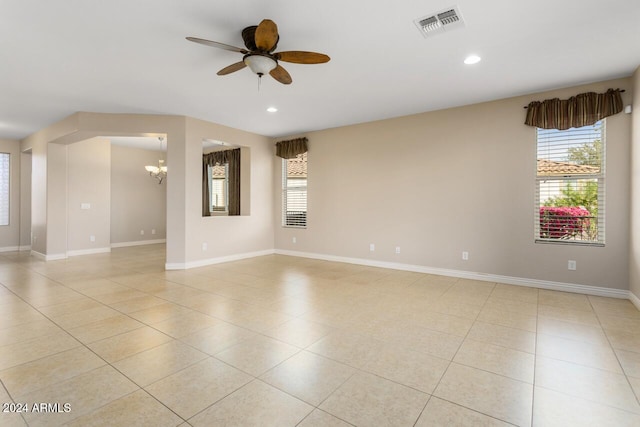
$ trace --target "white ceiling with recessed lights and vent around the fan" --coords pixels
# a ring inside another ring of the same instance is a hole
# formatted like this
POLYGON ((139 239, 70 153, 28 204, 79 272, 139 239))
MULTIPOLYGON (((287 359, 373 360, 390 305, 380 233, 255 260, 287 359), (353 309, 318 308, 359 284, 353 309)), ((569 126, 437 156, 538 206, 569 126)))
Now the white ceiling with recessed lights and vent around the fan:
POLYGON ((638 0, 2 0, 0 138, 76 111, 186 115, 268 136, 396 117, 631 75, 638 0), (457 5, 461 30, 424 38, 414 19, 457 5), (289 86, 248 69, 240 31, 278 24, 289 86), (463 59, 475 53, 477 65, 463 59), (266 108, 276 106, 277 113, 266 108))

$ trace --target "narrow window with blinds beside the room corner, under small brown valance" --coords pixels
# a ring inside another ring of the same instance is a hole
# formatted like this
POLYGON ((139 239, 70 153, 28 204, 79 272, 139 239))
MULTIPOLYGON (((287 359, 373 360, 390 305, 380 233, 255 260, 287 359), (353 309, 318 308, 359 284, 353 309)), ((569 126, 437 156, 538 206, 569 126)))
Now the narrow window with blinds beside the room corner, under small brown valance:
POLYGON ((282 225, 307 227, 307 153, 282 159, 282 225))

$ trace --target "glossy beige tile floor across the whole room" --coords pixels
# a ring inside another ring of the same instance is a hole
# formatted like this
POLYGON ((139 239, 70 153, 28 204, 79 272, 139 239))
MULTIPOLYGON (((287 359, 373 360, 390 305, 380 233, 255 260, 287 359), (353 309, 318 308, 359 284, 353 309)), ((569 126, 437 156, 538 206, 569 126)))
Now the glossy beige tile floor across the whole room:
POLYGON ((640 425, 629 301, 277 255, 163 265, 163 245, 0 254, 0 401, 29 408, 0 425, 640 425))

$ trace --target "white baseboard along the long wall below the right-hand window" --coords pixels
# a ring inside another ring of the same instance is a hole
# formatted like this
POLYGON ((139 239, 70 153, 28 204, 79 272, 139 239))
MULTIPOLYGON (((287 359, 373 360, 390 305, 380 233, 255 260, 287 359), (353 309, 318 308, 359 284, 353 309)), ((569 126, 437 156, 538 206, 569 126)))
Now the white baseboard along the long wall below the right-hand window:
MULTIPOLYGON (((551 282, 547 280, 526 279, 522 277, 500 276, 497 274, 476 273, 472 271, 449 270, 444 268, 401 264, 396 262, 375 261, 362 258, 347 258, 310 252, 297 252, 276 249, 275 253, 279 255, 288 255, 301 258, 313 258, 324 261, 344 262, 347 264, 358 264, 370 267, 389 268, 393 270, 412 271, 416 273, 436 274, 439 276, 458 277, 461 279, 481 280, 485 282, 496 282, 505 283, 508 285, 527 286, 531 288, 550 289, 561 292, 573 292, 609 298, 630 299, 630 292, 624 289, 611 289, 600 286, 579 285, 575 283, 551 282)), ((640 300, 638 300, 638 304, 640 304, 640 300)))

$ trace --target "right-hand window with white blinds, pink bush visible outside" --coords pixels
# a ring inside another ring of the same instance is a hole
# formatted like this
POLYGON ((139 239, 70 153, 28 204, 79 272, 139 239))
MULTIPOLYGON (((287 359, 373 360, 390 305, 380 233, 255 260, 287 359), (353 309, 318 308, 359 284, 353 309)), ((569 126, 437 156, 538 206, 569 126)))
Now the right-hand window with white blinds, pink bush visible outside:
POLYGON ((605 121, 537 130, 536 242, 604 245, 605 121))

